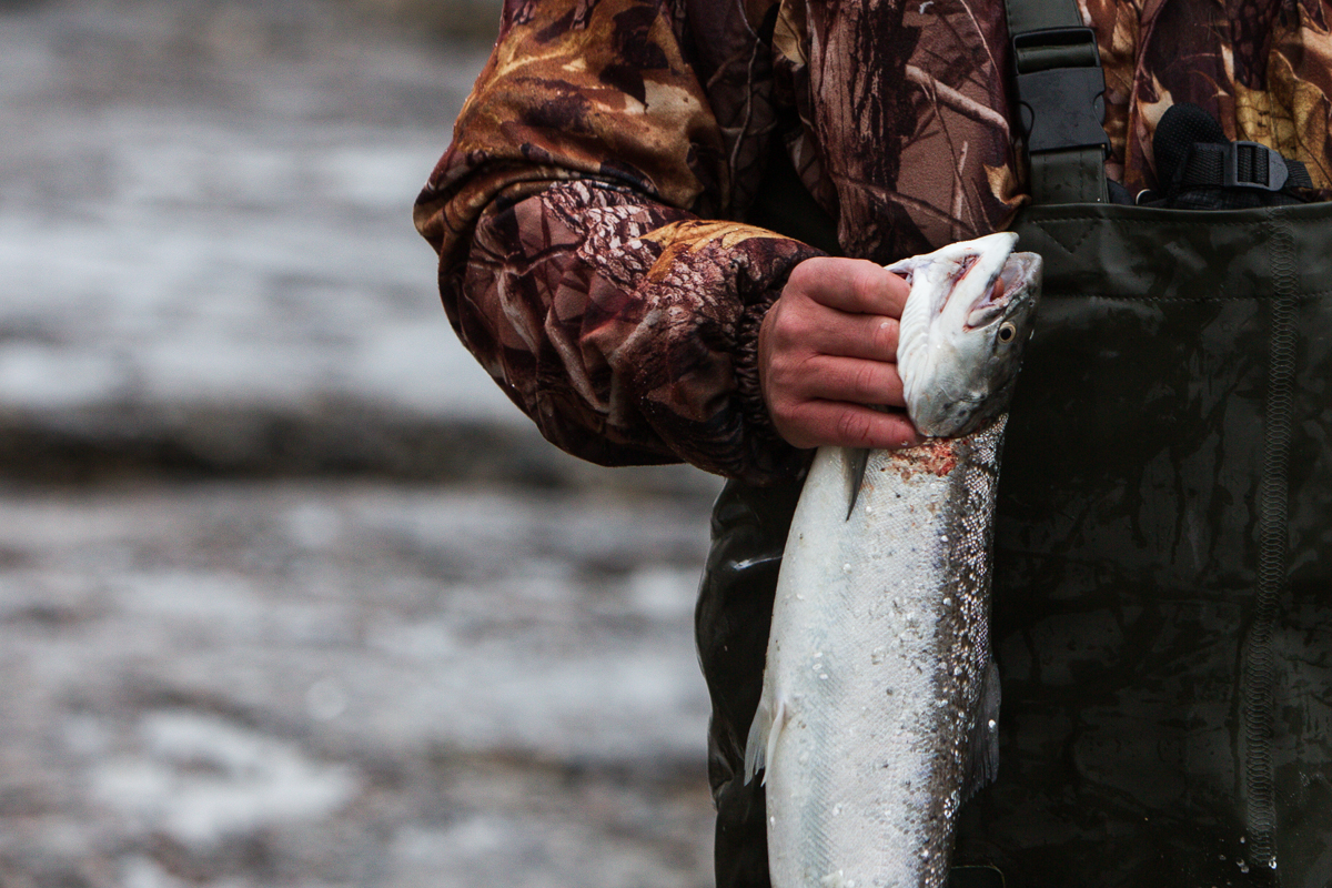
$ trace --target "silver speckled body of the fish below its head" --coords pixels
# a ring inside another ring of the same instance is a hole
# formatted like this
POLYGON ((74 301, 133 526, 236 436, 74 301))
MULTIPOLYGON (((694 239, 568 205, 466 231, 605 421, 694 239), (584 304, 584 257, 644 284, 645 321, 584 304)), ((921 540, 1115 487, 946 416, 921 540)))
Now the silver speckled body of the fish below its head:
POLYGON ((850 518, 848 451, 815 457, 787 539, 754 738, 775 888, 944 883, 984 708, 1002 422, 871 453, 850 518))

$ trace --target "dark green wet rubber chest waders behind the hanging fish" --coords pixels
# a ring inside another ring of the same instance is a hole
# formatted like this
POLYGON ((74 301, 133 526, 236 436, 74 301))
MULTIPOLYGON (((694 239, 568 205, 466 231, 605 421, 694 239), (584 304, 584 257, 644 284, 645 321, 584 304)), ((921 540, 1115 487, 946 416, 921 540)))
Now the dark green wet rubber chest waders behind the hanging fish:
MULTIPOLYGON (((1090 32, 1040 45, 1023 15, 1019 72, 1086 67, 1090 32)), ((1042 89, 1087 97, 1083 76, 1019 80, 1036 128, 1042 89)), ((999 491, 999 779, 963 805, 950 887, 1328 888, 1332 204, 1108 204, 1103 134, 1063 130, 1028 137, 1015 230, 1046 273, 999 491)), ((769 884, 742 762, 797 495, 731 483, 713 515, 721 888, 769 884)))

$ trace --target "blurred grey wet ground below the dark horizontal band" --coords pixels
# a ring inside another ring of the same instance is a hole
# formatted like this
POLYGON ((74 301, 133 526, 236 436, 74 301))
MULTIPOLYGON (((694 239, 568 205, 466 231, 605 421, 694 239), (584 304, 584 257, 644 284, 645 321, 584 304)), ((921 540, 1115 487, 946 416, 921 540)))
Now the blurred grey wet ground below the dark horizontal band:
POLYGON ((705 513, 0 497, 0 884, 707 884, 705 513))

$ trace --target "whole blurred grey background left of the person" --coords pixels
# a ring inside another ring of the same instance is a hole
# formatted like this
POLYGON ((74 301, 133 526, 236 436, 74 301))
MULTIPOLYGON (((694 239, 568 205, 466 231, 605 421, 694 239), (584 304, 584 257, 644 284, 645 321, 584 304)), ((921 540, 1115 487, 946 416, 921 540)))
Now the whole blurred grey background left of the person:
POLYGON ((498 0, 0 0, 0 888, 710 884, 717 482, 541 441, 412 201, 498 0))

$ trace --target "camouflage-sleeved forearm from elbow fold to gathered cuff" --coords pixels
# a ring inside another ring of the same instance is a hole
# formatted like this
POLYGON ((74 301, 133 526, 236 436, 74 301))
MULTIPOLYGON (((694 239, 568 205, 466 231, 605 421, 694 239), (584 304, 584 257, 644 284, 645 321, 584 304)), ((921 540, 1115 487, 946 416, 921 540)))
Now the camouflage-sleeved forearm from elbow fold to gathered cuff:
POLYGON ((570 182, 484 214, 441 289, 462 341, 559 447, 762 483, 802 454, 763 405, 758 329, 790 270, 815 254, 570 182))

